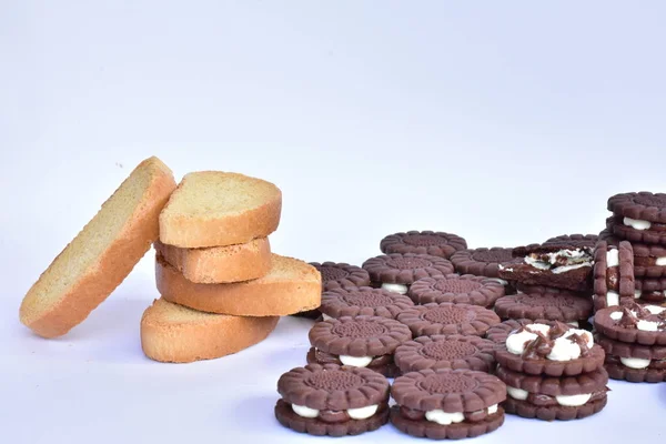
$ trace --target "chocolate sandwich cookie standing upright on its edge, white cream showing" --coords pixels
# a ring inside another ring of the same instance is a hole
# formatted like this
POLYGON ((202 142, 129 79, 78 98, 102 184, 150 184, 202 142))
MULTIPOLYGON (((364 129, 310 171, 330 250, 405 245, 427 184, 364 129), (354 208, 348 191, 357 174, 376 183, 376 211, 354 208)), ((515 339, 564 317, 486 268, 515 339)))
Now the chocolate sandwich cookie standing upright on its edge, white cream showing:
POLYGON ((594 307, 622 305, 634 301, 634 250, 622 241, 617 248, 601 241, 594 252, 594 307))

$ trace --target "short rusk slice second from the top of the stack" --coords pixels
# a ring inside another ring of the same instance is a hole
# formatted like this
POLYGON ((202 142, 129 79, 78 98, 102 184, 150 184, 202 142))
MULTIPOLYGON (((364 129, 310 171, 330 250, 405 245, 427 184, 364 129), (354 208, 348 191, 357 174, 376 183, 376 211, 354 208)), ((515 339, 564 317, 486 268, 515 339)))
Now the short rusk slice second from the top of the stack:
POLYGON ((248 243, 208 249, 181 249, 155 242, 155 250, 188 281, 215 284, 242 282, 264 276, 271 270, 268 238, 248 243))

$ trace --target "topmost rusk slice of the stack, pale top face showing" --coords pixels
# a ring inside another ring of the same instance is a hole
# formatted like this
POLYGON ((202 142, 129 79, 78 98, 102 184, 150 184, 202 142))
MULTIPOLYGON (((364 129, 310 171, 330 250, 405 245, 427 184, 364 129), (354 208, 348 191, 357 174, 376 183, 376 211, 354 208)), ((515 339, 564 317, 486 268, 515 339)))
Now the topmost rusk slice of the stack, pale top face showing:
POLYGON ((185 249, 225 246, 278 229, 282 192, 243 174, 186 174, 160 214, 160 241, 185 249))

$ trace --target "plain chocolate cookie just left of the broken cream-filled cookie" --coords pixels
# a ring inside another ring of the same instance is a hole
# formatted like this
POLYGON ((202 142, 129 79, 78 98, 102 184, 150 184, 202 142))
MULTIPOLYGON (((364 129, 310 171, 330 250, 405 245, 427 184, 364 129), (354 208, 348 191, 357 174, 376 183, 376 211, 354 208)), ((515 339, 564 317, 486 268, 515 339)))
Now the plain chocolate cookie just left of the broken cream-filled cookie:
POLYGON ((487 278, 500 278, 500 265, 516 264, 522 261, 522 258, 513 256, 513 249, 501 246, 463 250, 451 256, 451 262, 458 273, 487 278))

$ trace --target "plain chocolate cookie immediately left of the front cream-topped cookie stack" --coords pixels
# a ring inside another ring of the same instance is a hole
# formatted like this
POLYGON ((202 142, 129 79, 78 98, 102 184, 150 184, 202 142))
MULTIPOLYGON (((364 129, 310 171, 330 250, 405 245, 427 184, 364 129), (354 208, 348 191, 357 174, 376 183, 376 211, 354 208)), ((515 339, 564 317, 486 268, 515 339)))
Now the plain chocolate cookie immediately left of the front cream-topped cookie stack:
POLYGON ((461 334, 421 336, 395 350, 395 365, 403 374, 425 369, 495 371, 495 343, 461 334))

